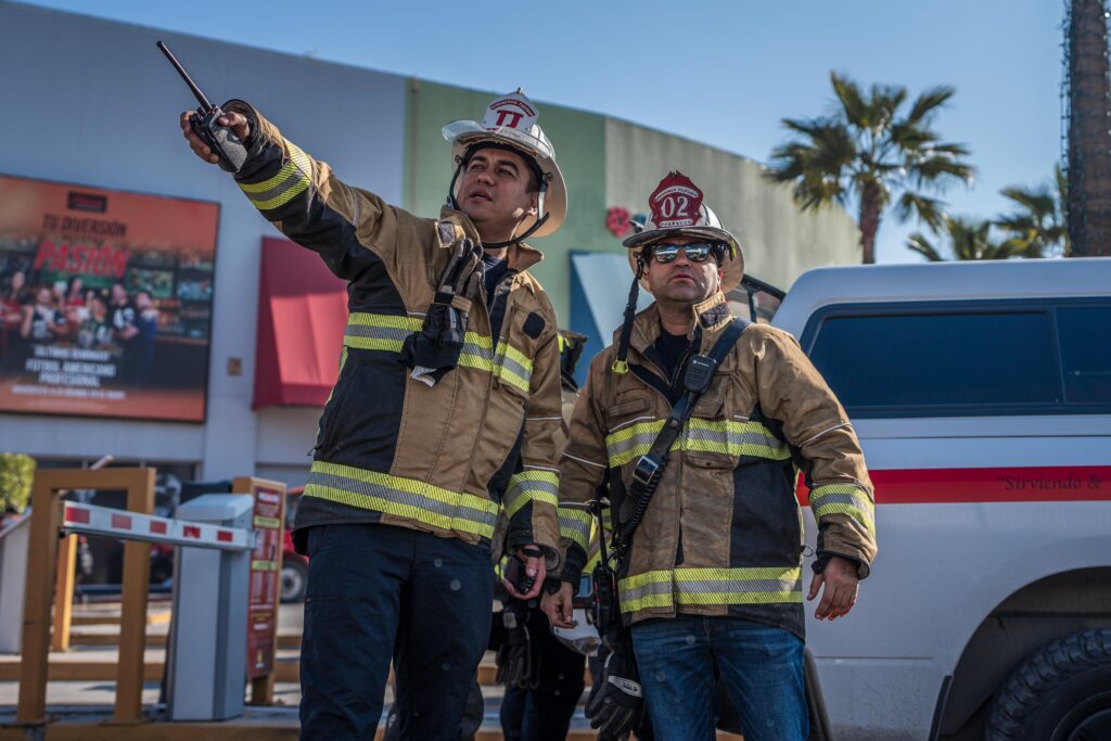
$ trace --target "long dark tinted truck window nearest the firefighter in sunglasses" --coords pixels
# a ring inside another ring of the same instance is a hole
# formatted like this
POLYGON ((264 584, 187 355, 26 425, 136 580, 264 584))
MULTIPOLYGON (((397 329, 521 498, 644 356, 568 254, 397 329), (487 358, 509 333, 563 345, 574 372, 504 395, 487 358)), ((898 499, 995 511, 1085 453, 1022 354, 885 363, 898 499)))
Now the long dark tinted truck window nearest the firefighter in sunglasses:
POLYGON ((811 359, 851 414, 1034 413, 1063 401, 1048 310, 891 311, 830 313, 818 327, 811 359))

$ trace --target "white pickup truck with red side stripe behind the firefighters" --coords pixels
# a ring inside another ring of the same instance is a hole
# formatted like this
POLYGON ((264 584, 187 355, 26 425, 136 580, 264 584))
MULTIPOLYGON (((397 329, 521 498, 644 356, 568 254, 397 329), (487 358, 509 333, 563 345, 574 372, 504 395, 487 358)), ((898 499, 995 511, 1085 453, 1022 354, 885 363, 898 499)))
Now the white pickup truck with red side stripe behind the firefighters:
POLYGON ((875 485, 855 609, 808 609, 814 737, 1111 739, 1111 259, 823 268, 772 323, 875 485))

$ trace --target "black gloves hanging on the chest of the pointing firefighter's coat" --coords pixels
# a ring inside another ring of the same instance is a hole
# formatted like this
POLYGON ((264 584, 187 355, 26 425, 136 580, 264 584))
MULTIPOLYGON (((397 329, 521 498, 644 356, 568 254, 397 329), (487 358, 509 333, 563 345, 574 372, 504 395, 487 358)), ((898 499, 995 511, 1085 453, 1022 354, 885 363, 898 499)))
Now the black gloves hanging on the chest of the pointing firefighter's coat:
POLYGON ((401 347, 401 360, 413 369, 412 377, 429 385, 436 385, 459 362, 467 314, 482 284, 482 248, 469 239, 460 239, 450 249, 451 259, 440 273, 440 284, 424 314, 424 323, 401 347))

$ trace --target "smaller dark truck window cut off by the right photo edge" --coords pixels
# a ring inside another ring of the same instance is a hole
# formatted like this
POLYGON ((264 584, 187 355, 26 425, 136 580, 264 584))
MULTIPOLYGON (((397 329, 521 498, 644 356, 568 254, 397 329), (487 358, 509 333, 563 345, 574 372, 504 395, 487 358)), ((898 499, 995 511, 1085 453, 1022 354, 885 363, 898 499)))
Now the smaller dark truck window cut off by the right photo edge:
POLYGON ((1111 307, 1062 307, 1057 327, 1065 400, 1111 404, 1111 307))

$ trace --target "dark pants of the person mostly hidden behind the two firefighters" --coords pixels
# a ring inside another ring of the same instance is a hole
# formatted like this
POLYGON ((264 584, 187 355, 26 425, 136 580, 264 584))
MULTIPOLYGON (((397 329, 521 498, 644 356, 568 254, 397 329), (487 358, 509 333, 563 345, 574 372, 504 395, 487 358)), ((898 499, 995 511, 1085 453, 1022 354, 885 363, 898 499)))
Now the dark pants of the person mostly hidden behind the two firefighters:
POLYGON ((537 641, 538 685, 506 688, 502 734, 506 741, 563 741, 582 697, 587 657, 560 643, 539 609, 530 611, 529 634, 537 641))

